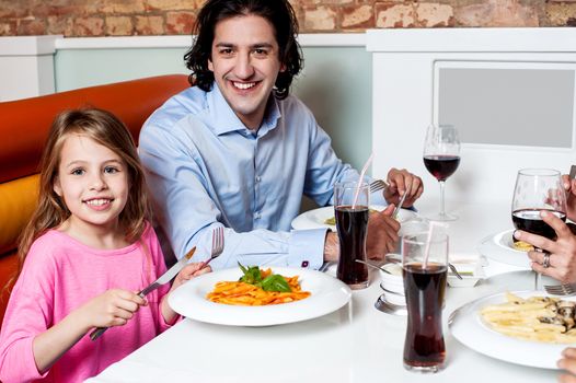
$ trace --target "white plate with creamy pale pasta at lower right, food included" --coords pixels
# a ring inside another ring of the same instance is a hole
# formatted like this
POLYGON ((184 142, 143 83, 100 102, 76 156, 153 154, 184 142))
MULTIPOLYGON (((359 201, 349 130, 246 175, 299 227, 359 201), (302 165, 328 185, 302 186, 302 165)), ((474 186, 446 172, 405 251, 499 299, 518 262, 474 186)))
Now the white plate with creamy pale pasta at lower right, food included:
POLYGON ((448 325, 454 338, 477 352, 516 364, 557 369, 562 350, 576 345, 575 299, 543 291, 500 292, 464 304, 452 312, 448 325))

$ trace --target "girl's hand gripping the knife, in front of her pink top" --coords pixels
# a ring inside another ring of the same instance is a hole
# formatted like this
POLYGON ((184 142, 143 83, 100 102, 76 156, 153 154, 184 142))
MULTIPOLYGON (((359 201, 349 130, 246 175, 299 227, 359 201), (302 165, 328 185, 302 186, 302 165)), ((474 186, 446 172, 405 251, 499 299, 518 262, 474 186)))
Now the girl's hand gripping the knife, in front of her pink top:
POLYGON ((147 301, 137 293, 112 289, 91 299, 76 310, 76 316, 88 327, 123 326, 147 301))

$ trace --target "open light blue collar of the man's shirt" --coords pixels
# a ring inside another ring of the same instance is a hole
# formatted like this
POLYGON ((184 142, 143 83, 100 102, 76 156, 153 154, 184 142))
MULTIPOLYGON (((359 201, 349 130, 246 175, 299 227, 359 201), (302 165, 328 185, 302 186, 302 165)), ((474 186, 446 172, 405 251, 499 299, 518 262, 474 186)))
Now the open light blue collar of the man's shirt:
MULTIPOLYGON (((240 118, 238 118, 238 116, 234 114, 234 111, 232 111, 226 101, 216 81, 212 83, 211 91, 207 92, 206 96, 208 101, 209 115, 214 121, 212 129, 218 136, 237 130, 250 131, 250 129, 247 129, 240 118)), ((266 105, 266 112, 258 129, 258 136, 263 136, 269 130, 274 129, 280 116, 278 101, 274 95, 272 95, 268 98, 268 103, 266 105)))

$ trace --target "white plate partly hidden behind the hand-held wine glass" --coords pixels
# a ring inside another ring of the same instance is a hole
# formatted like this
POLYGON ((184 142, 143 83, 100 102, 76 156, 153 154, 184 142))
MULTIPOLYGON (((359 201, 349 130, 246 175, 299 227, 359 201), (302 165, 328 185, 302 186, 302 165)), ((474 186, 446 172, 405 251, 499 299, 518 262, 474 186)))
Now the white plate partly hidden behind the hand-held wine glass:
POLYGON ((486 236, 477 247, 479 253, 496 262, 529 268, 530 258, 526 252, 514 248, 512 234, 514 230, 507 230, 486 236))

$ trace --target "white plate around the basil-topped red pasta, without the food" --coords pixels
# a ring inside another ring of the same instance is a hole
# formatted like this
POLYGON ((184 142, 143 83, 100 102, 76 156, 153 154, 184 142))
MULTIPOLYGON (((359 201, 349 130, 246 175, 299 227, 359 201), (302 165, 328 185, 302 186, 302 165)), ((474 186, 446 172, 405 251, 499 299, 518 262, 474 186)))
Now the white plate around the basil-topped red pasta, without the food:
POLYGON ((233 281, 242 276, 239 268, 208 272, 192 279, 169 297, 170 306, 195 321, 229 326, 272 326, 319 317, 344 306, 350 289, 324 272, 288 267, 270 267, 274 274, 299 276, 302 291, 311 295, 296 302, 266 306, 238 306, 210 302, 206 294, 219 281, 233 281))

